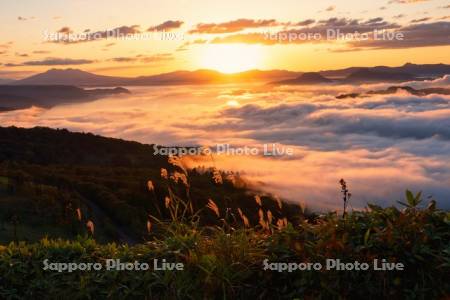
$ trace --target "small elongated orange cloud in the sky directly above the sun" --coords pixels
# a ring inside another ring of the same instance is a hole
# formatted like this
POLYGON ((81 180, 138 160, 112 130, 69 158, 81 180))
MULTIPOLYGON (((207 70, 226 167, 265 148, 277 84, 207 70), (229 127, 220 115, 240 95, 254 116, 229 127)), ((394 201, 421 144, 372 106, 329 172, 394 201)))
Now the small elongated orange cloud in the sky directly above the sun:
POLYGON ((275 19, 269 20, 253 20, 253 19, 237 19, 224 23, 200 23, 196 27, 189 31, 189 33, 233 33, 243 31, 248 28, 260 28, 277 26, 279 23, 275 19))

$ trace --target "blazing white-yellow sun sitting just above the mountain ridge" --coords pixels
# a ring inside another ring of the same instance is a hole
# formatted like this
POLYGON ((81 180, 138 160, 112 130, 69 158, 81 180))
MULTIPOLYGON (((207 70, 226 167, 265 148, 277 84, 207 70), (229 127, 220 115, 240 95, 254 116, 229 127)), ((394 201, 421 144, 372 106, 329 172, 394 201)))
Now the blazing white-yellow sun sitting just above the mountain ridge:
POLYGON ((258 45, 205 45, 200 53, 200 66, 223 73, 236 73, 260 67, 262 50, 258 45))

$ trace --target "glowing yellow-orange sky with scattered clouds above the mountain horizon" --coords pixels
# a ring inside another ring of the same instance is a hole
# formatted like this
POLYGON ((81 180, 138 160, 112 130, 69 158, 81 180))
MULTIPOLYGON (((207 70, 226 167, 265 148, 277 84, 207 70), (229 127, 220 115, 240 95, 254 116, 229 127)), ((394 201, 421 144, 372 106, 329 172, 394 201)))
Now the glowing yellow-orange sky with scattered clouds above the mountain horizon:
POLYGON ((0 22, 0 78, 69 67, 137 76, 450 63, 444 0, 3 0, 0 22), (134 38, 106 36, 115 29, 134 38), (374 30, 403 39, 375 39, 374 30))

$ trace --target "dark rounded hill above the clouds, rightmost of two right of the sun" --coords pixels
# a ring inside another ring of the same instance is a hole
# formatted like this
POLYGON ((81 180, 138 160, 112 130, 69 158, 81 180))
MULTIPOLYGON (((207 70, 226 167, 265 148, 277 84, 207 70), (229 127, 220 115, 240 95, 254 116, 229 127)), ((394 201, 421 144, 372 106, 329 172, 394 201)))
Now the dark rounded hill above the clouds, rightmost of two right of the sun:
POLYGON ((343 82, 362 83, 362 82, 392 82, 392 81, 410 81, 417 77, 409 73, 374 71, 373 69, 361 69, 348 75, 343 82))

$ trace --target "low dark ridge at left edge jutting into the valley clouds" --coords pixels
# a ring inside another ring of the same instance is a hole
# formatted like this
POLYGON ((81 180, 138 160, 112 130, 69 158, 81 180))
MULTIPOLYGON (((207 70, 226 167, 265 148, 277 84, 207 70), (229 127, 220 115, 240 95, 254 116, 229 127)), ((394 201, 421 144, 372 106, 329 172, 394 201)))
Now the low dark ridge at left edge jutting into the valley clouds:
POLYGON ((91 101, 123 93, 129 91, 120 87, 86 90, 69 85, 0 85, 0 111, 31 106, 49 108, 57 104, 91 101))

